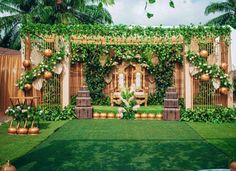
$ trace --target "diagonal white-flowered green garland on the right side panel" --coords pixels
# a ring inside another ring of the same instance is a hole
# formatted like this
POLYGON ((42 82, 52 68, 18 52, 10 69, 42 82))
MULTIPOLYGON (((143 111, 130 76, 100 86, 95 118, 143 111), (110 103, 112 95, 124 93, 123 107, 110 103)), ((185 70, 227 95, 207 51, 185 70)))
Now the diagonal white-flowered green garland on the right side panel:
POLYGON ((232 87, 229 75, 226 74, 218 65, 208 64, 206 59, 192 51, 187 52, 187 59, 199 70, 199 73, 197 73, 195 77, 199 78, 202 74, 208 74, 210 79, 220 79, 220 87, 232 87))

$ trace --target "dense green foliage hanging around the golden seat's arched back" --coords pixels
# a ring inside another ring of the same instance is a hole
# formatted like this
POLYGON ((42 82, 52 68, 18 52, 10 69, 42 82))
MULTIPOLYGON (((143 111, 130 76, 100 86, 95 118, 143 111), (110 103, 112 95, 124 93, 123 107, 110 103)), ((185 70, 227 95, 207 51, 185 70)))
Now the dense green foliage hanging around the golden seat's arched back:
MULTIPOLYGON (((147 69, 149 74, 156 78, 157 91, 150 104, 163 102, 166 88, 172 85, 173 70, 176 63, 182 64, 181 44, 162 45, 77 45, 72 44, 72 64, 85 63, 85 75, 88 88, 93 102, 99 99, 105 100, 103 89, 106 84, 104 77, 109 74, 113 67, 123 60, 129 63, 140 63, 147 69), (101 55, 107 55, 104 66, 99 59, 101 55), (139 54, 140 56, 137 56, 139 54), (153 54, 158 56, 158 65, 153 65, 153 54)), ((105 100, 106 101, 106 100, 105 100)), ((95 103, 101 104, 101 103, 95 103)))

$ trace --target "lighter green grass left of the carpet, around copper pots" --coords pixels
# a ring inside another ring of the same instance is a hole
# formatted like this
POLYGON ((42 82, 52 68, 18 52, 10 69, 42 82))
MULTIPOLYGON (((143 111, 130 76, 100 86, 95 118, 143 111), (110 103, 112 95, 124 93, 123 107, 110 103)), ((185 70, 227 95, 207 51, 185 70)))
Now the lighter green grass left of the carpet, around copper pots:
POLYGON ((0 126, 0 165, 18 158, 40 144, 67 121, 42 122, 39 135, 8 135, 9 124, 0 126))

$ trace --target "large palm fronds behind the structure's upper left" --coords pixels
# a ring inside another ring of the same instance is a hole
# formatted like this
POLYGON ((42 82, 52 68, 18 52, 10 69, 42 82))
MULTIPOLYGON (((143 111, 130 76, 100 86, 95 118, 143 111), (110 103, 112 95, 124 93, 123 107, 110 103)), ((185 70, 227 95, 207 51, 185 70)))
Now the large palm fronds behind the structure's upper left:
POLYGON ((0 47, 20 48, 22 24, 112 23, 103 8, 112 4, 114 0, 0 0, 0 13, 5 14, 0 17, 0 47))

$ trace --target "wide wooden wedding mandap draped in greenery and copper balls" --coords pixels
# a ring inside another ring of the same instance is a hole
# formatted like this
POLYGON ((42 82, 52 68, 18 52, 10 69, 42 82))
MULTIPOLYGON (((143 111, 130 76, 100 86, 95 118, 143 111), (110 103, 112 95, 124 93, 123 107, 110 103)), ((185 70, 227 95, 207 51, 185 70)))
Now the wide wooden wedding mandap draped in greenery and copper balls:
POLYGON ((34 24, 21 38, 17 86, 43 105, 88 90, 87 107, 119 106, 132 87, 138 105, 233 106, 230 27, 34 24))

